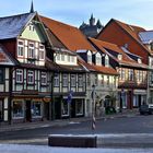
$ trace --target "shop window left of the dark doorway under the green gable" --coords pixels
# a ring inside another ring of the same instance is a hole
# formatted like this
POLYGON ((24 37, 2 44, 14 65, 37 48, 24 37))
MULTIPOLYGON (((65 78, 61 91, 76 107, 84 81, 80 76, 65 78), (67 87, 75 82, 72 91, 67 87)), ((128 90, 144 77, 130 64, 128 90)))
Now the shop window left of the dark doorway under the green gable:
POLYGON ((13 102, 13 117, 14 118, 24 117, 22 101, 13 102))

